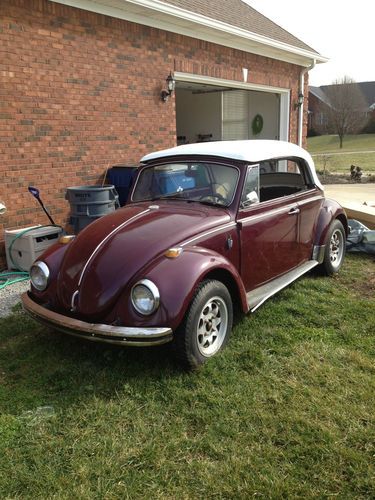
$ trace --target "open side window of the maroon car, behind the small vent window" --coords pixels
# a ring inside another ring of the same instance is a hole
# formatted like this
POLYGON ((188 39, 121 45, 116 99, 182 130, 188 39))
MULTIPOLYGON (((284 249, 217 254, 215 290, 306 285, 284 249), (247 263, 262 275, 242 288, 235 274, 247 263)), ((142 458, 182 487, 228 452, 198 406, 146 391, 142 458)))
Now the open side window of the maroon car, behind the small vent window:
POLYGON ((259 198, 269 201, 297 194, 311 187, 303 160, 280 158, 259 165, 259 198))

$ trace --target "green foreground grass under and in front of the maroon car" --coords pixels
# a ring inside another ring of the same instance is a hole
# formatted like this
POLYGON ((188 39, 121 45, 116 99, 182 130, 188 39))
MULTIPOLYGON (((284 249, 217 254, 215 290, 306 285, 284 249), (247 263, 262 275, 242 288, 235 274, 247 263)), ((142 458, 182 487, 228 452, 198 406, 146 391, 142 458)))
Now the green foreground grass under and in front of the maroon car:
POLYGON ((181 372, 0 319, 1 498, 375 495, 375 262, 310 274, 181 372), (47 408, 43 408, 47 407, 47 408))

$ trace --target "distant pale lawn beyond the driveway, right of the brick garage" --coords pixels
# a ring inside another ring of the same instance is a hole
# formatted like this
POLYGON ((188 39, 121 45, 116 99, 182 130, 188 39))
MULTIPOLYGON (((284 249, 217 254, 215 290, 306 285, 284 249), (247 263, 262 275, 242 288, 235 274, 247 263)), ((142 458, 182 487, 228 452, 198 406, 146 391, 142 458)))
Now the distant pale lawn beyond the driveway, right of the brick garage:
POLYGON ((375 174, 375 134, 349 135, 340 149, 337 135, 310 137, 307 149, 313 155, 317 170, 350 174, 350 165, 358 165, 365 174, 375 174), (371 152, 372 151, 372 152, 371 152))

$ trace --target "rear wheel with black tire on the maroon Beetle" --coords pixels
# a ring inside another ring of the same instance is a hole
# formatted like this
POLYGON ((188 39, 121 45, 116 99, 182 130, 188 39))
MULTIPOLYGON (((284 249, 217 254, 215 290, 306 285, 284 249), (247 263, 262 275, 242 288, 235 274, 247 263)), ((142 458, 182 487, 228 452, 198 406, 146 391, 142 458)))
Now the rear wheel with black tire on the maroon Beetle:
POLYGON ((328 230, 323 263, 319 266, 323 274, 338 273, 345 257, 346 234, 339 220, 334 220, 328 230))

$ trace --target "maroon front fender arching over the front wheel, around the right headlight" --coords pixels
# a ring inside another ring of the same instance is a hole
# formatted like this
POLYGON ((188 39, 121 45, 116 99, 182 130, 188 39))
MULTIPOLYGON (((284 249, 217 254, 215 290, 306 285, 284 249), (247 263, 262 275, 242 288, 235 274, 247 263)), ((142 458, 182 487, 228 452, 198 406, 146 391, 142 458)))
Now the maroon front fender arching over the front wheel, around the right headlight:
POLYGON ((235 266, 215 251, 188 247, 177 258, 160 256, 137 273, 118 300, 115 316, 132 326, 159 325, 175 330, 183 320, 197 285, 204 279, 223 281, 233 301, 239 301, 241 309, 247 312, 245 288, 235 266), (142 279, 151 280, 160 292, 160 306, 149 317, 137 313, 131 303, 131 288, 142 279))

